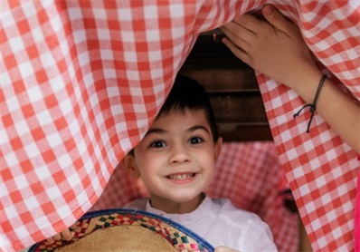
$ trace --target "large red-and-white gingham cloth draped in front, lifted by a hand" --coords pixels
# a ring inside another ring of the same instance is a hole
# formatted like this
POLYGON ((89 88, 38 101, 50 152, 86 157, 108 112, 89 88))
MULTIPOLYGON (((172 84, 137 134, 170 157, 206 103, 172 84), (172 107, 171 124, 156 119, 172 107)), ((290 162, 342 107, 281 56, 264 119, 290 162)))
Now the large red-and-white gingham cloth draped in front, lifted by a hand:
MULTIPOLYGON (((360 99, 357 0, 1 1, 1 249, 70 226, 147 131, 197 34, 265 3, 360 99)), ((282 169, 315 250, 354 248, 356 154, 259 75, 282 169)))

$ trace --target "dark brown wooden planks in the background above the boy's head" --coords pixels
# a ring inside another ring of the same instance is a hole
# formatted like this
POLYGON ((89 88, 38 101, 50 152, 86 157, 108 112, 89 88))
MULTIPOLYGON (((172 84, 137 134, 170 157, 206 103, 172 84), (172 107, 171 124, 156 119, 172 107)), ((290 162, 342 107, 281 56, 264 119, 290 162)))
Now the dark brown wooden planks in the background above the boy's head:
POLYGON ((272 141, 255 74, 222 37, 219 30, 201 34, 180 73, 204 85, 224 141, 272 141))

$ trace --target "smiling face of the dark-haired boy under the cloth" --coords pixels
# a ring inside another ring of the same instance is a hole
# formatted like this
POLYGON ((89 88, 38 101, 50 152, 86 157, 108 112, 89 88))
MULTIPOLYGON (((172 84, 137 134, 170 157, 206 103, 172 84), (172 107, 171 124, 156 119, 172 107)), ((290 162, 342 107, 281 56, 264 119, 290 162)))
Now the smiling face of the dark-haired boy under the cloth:
POLYGON ((212 182, 221 146, 204 111, 174 111, 153 123, 127 166, 143 179, 153 206, 166 210, 198 200, 212 182))

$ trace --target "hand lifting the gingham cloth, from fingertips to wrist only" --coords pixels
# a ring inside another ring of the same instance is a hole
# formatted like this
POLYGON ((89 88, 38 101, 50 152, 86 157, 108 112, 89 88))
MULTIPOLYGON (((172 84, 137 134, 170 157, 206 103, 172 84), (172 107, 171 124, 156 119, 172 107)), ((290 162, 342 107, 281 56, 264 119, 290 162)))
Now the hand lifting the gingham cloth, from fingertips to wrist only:
POLYGON ((253 69, 297 90, 303 73, 318 72, 312 54, 298 27, 275 7, 265 5, 262 15, 268 22, 245 14, 223 25, 223 43, 253 69))

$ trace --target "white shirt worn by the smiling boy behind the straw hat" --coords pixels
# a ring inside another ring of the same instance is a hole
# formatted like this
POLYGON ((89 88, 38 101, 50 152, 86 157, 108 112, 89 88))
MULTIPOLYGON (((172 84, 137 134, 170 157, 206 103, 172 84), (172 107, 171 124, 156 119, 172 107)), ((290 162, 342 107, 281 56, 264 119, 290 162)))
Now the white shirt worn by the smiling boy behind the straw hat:
POLYGON ((146 210, 170 218, 203 237, 213 247, 226 246, 242 252, 278 251, 269 226, 257 215, 235 208, 229 199, 205 197, 186 214, 167 214, 151 207, 148 199, 136 199, 123 208, 146 210))

